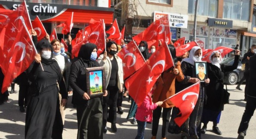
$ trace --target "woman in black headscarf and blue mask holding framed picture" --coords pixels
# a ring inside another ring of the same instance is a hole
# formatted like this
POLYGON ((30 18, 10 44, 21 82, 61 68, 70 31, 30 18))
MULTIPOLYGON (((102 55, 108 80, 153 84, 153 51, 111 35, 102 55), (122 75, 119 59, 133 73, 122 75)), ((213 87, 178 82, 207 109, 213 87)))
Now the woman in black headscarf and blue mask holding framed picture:
MULTIPOLYGON (((86 93, 86 68, 99 67, 96 61, 95 44, 81 46, 78 60, 71 65, 69 84, 73 88, 76 104, 78 133, 77 139, 103 139, 102 131, 102 97, 90 99, 86 93)), ((103 96, 106 96, 107 92, 103 96)))

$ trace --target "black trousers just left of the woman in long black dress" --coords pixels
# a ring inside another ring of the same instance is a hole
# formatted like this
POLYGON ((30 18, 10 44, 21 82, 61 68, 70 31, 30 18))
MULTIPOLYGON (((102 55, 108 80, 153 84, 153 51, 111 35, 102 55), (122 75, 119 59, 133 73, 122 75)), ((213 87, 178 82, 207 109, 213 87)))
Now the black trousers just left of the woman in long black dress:
POLYGON ((27 106, 29 85, 19 85, 19 106, 27 106))

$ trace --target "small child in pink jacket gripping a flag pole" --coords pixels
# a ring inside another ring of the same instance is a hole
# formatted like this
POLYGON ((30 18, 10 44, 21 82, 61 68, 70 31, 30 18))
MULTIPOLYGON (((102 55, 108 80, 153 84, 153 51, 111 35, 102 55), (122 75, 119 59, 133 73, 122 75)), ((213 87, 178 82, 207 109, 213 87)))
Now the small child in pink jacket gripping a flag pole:
POLYGON ((136 119, 138 124, 138 133, 135 139, 144 139, 144 132, 147 122, 152 122, 153 110, 157 106, 161 106, 163 102, 152 103, 151 92, 145 97, 144 101, 138 107, 136 112, 136 119))

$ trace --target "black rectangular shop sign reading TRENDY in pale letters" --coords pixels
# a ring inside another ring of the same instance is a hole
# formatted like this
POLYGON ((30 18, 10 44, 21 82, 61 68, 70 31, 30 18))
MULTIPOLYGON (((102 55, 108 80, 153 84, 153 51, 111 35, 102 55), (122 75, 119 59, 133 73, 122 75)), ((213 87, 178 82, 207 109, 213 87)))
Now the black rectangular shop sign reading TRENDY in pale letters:
POLYGON ((208 18, 208 26, 232 28, 233 27, 233 21, 232 20, 208 18))

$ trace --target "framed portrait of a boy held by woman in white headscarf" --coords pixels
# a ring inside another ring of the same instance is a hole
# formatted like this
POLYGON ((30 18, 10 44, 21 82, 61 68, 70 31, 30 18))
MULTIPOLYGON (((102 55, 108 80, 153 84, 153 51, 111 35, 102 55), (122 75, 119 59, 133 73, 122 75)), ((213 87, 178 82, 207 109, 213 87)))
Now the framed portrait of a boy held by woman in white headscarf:
POLYGON ((201 82, 207 79, 207 66, 206 62, 195 61, 195 78, 201 82))

